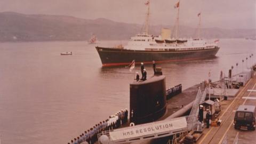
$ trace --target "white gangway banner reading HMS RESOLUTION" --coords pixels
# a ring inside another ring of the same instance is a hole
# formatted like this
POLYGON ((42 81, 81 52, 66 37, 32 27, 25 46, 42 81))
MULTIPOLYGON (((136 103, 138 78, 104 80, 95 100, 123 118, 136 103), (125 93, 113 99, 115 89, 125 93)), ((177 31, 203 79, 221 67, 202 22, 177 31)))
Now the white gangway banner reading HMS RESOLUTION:
POLYGON ((159 121, 147 124, 141 124, 123 129, 117 129, 109 132, 111 141, 145 137, 150 134, 171 132, 174 130, 185 129, 187 121, 185 117, 171 119, 170 121, 159 121))

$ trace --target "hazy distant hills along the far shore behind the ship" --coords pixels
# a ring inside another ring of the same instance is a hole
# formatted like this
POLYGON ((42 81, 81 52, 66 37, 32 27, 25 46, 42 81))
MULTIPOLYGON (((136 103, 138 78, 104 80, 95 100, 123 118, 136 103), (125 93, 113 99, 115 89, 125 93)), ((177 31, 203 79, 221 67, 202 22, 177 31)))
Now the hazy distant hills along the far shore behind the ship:
MULTIPOLYGON (((79 19, 62 15, 0 13, 0 42, 87 41, 92 34, 101 40, 129 39, 140 33, 142 25, 115 22, 104 18, 79 19)), ((159 35, 161 28, 151 26, 150 34, 159 35)), ((180 37, 195 36, 195 28, 180 26, 180 37)), ((205 38, 254 37, 256 29, 201 29, 205 38)))

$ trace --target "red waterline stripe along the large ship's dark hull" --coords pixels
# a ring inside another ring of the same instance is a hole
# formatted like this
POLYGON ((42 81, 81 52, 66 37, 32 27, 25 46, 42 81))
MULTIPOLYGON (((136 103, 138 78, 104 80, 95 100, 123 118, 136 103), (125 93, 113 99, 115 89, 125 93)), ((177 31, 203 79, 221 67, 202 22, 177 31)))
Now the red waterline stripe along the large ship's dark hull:
MULTIPOLYGON (((190 59, 181 59, 181 60, 162 60, 162 61, 155 61, 156 63, 164 63, 164 62, 176 62, 176 61, 188 61, 188 60, 198 60, 198 59, 205 59, 209 57, 201 57, 201 58, 190 58, 190 59)), ((143 62, 143 61, 141 61, 143 62)), ((141 62, 135 62, 135 64, 140 64, 141 62)), ((102 64, 103 67, 110 67, 110 66, 123 66, 129 65, 131 62, 122 62, 122 63, 106 63, 102 64)), ((152 61, 145 61, 145 64, 152 63, 152 61)))

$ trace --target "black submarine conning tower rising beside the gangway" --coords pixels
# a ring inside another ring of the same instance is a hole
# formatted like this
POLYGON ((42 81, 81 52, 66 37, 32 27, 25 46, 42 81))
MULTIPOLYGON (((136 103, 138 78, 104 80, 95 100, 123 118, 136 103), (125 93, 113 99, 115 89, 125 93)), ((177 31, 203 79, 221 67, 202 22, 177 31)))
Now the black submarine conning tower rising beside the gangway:
POLYGON ((161 68, 146 81, 130 84, 130 122, 143 124, 156 121, 166 111, 165 76, 161 68))

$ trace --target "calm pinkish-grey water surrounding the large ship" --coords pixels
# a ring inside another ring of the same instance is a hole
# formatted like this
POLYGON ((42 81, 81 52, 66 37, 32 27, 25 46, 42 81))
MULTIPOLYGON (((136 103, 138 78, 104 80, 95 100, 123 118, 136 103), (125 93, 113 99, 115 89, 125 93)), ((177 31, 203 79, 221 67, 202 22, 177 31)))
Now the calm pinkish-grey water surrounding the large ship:
MULTIPOLYGON (((101 68, 94 46, 86 42, 0 44, 2 143, 67 143, 116 111, 129 108, 129 83, 140 67, 133 72, 124 67, 101 68), (63 51, 73 55, 60 55, 63 51)), ((209 78, 209 71, 217 81, 220 70, 226 75, 231 66, 235 73, 242 71, 242 59, 251 53, 255 61, 256 41, 220 39, 219 46, 214 59, 157 64, 166 76, 166 86, 181 83, 186 89, 209 78)), ((146 69, 148 76, 153 74, 151 65, 146 69)))

